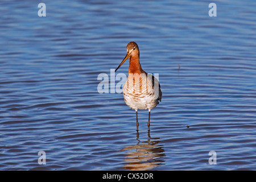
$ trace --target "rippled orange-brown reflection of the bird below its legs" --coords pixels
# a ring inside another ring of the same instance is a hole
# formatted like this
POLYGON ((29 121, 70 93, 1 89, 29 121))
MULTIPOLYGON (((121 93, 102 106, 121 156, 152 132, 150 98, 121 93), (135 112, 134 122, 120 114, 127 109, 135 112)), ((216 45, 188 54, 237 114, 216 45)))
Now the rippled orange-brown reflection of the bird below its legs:
POLYGON ((162 159, 164 154, 163 145, 158 144, 160 138, 151 138, 148 131, 147 141, 139 140, 139 132, 137 131, 138 143, 123 148, 121 151, 127 151, 125 157, 125 166, 123 168, 129 170, 146 171, 154 169, 164 164, 162 159))

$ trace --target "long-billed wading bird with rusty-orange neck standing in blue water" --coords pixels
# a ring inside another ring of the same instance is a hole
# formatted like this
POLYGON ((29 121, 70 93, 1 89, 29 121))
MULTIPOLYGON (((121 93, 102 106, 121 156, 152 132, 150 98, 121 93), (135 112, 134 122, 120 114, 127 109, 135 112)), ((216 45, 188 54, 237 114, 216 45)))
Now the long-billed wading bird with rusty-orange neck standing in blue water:
MULTIPOLYGON (((119 64, 117 69, 129 57, 129 75, 125 85, 123 85, 123 99, 125 104, 136 111, 136 126, 138 123, 138 109, 148 109, 148 131, 150 130, 150 110, 159 104, 162 99, 162 92, 158 80, 151 74, 147 74, 139 63, 139 47, 137 43, 127 44, 127 54, 125 59, 119 64)), ((115 69, 115 72, 117 71, 115 69)))

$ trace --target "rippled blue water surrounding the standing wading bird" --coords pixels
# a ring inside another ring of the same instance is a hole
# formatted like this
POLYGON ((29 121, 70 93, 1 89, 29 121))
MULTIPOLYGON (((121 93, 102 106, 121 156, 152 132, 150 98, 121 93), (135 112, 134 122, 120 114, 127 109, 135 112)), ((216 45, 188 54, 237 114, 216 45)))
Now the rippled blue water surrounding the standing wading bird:
POLYGON ((256 169, 255 1, 42 2, 0 2, 1 170, 256 169), (163 92, 150 133, 97 91, 131 41, 163 92))

